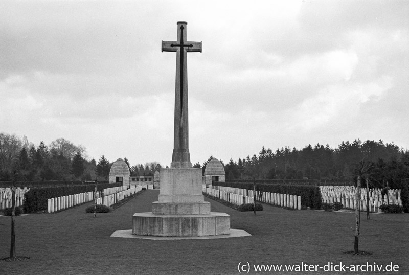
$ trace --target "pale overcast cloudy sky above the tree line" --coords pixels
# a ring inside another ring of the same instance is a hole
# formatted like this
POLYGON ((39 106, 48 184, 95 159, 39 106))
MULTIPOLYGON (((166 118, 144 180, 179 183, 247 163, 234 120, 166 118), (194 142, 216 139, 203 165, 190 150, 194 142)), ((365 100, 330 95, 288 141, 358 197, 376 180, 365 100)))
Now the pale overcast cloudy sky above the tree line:
POLYGON ((0 132, 169 165, 176 54, 192 163, 262 146, 409 148, 409 1, 1 1, 0 132))

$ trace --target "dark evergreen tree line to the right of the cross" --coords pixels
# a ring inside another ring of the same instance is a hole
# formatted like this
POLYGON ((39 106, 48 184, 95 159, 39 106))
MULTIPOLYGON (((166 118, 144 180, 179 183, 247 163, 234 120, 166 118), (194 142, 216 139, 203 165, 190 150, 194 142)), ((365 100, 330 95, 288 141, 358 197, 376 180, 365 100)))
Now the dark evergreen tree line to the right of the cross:
POLYGON ((373 187, 399 188, 401 179, 409 178, 409 151, 382 140, 362 142, 359 139, 342 142, 335 149, 328 144, 307 145, 301 150, 284 147, 276 151, 263 146, 258 155, 248 155, 237 162, 230 159, 223 166, 226 180, 345 179, 355 182, 360 175, 368 177, 373 187))

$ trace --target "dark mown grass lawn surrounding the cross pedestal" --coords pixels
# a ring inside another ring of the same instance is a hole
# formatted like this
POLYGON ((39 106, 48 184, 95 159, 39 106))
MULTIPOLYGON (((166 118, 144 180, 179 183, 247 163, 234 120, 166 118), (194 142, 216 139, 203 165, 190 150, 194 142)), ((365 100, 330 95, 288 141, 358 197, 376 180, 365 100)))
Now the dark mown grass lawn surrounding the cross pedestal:
MULTIPOLYGON (((238 274, 238 264, 399 265, 409 274, 409 214, 361 214, 359 248, 353 250, 355 215, 290 211, 264 205, 264 211, 238 212, 206 198, 212 212, 231 215, 231 227, 251 237, 208 240, 143 240, 109 237, 132 228, 135 212, 151 212, 159 191, 148 190, 106 214, 85 214, 92 203, 55 214, 16 217, 16 254, 31 259, 0 262, 0 274, 238 274)), ((10 249, 10 217, 0 217, 0 259, 10 249)), ((275 272, 269 272, 275 273, 275 272)), ((287 272, 276 272, 286 274, 287 272)), ((287 274, 336 272, 288 272, 287 274)), ((388 272, 340 272, 387 274, 388 272)))

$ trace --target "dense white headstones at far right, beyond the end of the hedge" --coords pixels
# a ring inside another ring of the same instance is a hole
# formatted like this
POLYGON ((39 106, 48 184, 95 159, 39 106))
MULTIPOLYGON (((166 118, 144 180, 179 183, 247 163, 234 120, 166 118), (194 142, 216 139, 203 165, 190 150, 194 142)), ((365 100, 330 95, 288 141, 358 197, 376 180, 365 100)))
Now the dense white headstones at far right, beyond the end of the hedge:
MULTIPOLYGON (((356 192, 359 190, 354 186, 320 186, 323 202, 334 203, 340 202, 344 208, 356 208, 356 192)), ((388 193, 382 197, 381 189, 373 188, 368 190, 360 189, 360 210, 367 211, 367 198, 370 212, 381 212, 380 205, 382 204, 398 204, 402 205, 400 198, 400 190, 390 189, 388 193)))

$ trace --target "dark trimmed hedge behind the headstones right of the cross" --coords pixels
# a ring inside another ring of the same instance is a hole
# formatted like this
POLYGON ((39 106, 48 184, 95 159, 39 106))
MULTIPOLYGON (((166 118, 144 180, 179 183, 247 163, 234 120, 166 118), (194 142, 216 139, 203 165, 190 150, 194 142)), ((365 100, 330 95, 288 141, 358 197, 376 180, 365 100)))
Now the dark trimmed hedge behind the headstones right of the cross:
MULTIPOLYGON (((235 187, 247 190, 253 190, 254 183, 251 182, 223 182, 213 181, 213 186, 235 187)), ((301 207, 321 209, 321 192, 319 186, 313 185, 271 185, 256 183, 256 190, 261 192, 270 192, 278 194, 289 194, 301 196, 301 207)))

